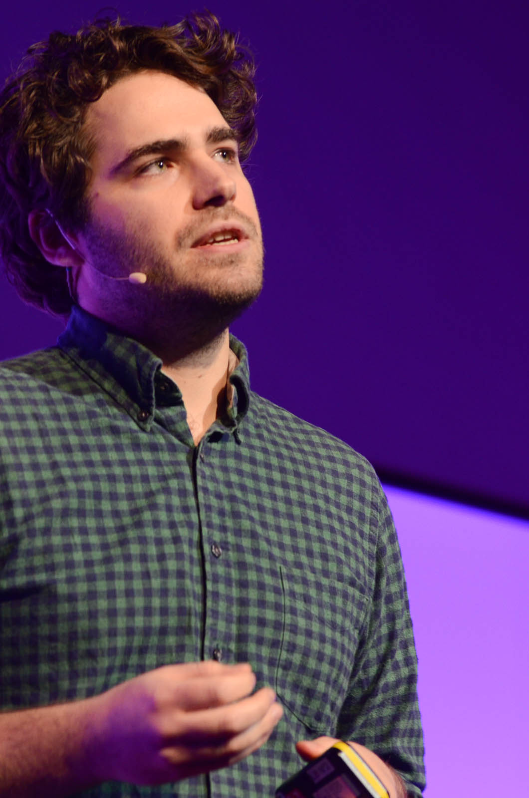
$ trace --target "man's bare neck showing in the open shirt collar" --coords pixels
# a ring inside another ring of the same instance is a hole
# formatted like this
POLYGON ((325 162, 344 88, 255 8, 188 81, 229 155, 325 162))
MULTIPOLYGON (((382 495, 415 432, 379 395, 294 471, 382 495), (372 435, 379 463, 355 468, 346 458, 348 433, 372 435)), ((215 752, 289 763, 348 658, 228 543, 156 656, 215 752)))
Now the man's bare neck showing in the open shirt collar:
POLYGON ((229 334, 177 361, 162 358, 161 370, 181 390, 189 430, 195 445, 225 410, 229 367, 229 334))

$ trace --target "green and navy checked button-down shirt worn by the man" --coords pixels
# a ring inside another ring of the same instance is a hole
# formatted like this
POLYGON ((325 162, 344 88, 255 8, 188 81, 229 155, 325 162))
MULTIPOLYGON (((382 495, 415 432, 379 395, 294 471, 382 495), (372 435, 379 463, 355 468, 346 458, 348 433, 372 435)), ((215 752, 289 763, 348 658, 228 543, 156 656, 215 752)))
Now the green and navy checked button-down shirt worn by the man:
MULTIPOLYGON (((249 390, 194 447, 143 346, 75 310, 0 373, 0 705, 170 662, 248 661, 284 718, 247 760, 83 796, 272 796, 300 739, 354 739, 424 784, 416 654, 388 506, 346 444, 249 390)), ((415 785, 415 786, 414 786, 415 785)))

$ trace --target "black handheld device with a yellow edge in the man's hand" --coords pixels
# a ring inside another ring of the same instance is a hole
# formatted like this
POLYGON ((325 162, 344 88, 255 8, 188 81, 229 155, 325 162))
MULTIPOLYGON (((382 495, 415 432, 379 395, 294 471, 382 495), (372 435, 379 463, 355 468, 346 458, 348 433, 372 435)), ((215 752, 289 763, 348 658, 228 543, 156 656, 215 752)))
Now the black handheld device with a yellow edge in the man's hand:
POLYGON ((360 754, 338 741, 281 784, 276 798, 389 798, 389 794, 360 754))

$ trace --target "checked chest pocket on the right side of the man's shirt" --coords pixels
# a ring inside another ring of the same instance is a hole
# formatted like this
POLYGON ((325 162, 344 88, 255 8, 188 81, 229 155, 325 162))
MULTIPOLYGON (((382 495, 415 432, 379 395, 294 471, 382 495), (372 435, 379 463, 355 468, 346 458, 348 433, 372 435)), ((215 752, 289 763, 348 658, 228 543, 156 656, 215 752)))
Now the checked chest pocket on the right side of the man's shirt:
POLYGON ((333 734, 368 599, 351 584, 281 568, 283 629, 275 689, 312 733, 333 734))

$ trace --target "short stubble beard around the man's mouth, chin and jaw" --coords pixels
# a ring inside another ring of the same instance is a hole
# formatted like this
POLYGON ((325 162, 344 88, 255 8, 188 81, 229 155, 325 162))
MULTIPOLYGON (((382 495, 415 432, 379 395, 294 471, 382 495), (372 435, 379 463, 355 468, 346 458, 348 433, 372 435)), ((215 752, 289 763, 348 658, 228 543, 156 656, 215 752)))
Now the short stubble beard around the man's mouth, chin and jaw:
POLYGON ((253 243, 252 252, 218 252, 213 266, 209 256, 198 250, 190 257, 190 243, 201 235, 208 221, 223 220, 221 210, 212 208, 210 219, 201 216, 200 223, 189 225, 178 236, 174 253, 167 255, 149 241, 148 231, 123 234, 89 222, 85 238, 90 263, 102 273, 105 317, 114 318, 114 326, 153 350, 172 341, 188 354, 218 338, 257 299, 263 271, 261 231, 233 209, 229 219, 244 223, 253 243), (109 279, 134 271, 145 271, 147 282, 133 286, 109 279))

